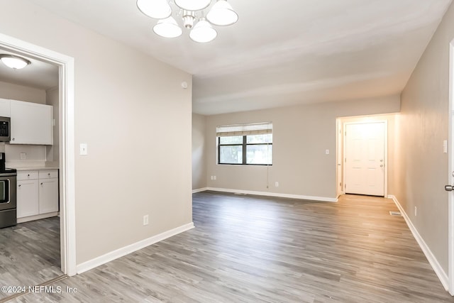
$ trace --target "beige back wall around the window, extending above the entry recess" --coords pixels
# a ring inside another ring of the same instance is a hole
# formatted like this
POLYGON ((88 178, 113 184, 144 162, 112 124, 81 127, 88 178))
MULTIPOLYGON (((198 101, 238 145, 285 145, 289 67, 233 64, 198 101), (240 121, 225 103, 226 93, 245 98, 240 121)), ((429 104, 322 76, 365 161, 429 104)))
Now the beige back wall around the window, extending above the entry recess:
POLYGON ((399 97, 391 96, 208 116, 207 185, 336 199, 336 118, 394 113, 399 108, 399 97), (265 121, 273 123, 272 166, 216 164, 216 126, 265 121))

